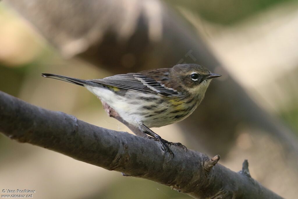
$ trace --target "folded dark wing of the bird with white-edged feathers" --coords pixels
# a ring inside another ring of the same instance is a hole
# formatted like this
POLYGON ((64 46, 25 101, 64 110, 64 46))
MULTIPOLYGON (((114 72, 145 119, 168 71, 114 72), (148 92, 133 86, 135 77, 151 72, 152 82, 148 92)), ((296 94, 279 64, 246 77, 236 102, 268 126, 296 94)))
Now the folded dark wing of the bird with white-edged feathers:
POLYGON ((153 78, 149 78, 139 73, 127 73, 114 75, 103 79, 91 79, 89 81, 105 84, 109 86, 119 87, 128 90, 135 90, 147 93, 156 93, 164 96, 181 95, 172 88, 167 88, 153 78))

